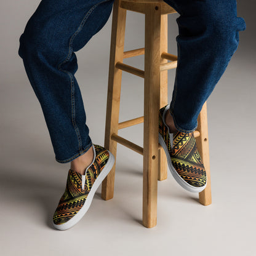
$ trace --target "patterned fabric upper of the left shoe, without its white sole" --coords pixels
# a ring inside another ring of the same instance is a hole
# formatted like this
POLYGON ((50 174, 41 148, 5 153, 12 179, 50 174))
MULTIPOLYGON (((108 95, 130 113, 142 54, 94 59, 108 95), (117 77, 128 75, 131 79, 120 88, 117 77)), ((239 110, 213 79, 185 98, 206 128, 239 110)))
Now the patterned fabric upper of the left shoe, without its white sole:
POLYGON ((87 169, 84 190, 82 190, 82 175, 71 169, 68 171, 66 189, 54 213, 53 220, 55 225, 68 222, 68 220, 79 212, 84 202, 86 202, 87 196, 96 178, 105 167, 106 162, 108 162, 110 156, 108 151, 98 145, 94 145, 94 148, 95 161, 89 169, 87 169))

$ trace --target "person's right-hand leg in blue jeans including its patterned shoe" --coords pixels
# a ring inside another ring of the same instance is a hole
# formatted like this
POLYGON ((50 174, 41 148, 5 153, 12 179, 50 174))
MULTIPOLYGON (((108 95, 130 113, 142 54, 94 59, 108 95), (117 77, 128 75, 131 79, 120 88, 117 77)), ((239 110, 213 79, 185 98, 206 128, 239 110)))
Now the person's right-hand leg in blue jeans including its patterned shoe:
POLYGON ((236 16, 236 0, 164 1, 180 17, 174 92, 170 105, 159 110, 159 143, 175 180, 188 191, 201 192, 207 175, 193 131, 246 25, 236 16))

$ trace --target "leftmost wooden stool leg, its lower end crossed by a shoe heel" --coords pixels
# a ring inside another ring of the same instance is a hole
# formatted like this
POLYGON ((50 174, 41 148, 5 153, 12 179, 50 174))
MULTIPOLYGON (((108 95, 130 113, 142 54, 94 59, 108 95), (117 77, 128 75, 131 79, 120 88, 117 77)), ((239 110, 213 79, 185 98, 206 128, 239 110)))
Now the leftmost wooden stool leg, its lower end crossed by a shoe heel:
MULTIPOLYGON (((108 98, 106 104, 105 148, 116 158, 116 142, 111 140, 112 134, 118 134, 119 106, 122 71, 116 68, 122 62, 124 54, 124 34, 126 30, 126 10, 119 7, 120 1, 114 1, 111 31, 110 70, 108 76, 108 98)), ((102 183, 102 198, 113 198, 114 170, 116 163, 102 183)))

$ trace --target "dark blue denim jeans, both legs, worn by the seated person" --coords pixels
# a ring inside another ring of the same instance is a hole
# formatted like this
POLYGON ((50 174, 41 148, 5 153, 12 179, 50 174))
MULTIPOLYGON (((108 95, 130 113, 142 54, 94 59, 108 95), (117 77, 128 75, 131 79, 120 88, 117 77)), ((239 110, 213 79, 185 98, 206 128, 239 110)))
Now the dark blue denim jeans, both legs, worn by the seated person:
MULTIPOLYGON (((238 47, 235 0, 164 0, 180 14, 178 67, 170 106, 180 131, 196 129, 198 114, 238 47)), ((76 54, 102 29, 114 0, 42 0, 20 37, 31 86, 41 104, 58 162, 92 145, 78 82, 76 54)))

